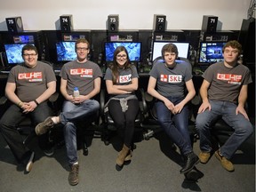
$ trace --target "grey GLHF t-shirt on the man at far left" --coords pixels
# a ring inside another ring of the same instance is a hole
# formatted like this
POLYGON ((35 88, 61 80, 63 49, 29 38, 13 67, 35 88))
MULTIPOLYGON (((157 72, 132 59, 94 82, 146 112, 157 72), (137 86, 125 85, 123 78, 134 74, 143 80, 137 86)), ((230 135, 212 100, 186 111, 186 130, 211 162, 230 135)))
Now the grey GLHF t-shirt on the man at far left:
POLYGON ((28 68, 24 63, 15 66, 7 80, 16 84, 16 94, 24 102, 36 100, 52 81, 56 81, 52 67, 41 61, 37 61, 35 68, 28 68))

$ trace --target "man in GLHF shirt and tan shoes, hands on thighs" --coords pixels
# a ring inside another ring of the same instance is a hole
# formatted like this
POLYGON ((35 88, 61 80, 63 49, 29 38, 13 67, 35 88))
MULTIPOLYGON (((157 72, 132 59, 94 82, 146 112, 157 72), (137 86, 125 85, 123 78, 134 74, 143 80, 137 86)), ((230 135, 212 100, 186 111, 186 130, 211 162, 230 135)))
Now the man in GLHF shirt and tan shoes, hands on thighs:
POLYGON ((214 153, 228 172, 235 170, 230 158, 253 132, 244 109, 252 76, 249 68, 237 62, 241 52, 241 44, 229 41, 222 49, 224 61, 212 64, 204 71, 204 81, 200 88, 203 103, 196 116, 201 149, 199 158, 203 164, 206 164, 211 156, 210 131, 217 118, 221 116, 235 130, 226 143, 214 153))

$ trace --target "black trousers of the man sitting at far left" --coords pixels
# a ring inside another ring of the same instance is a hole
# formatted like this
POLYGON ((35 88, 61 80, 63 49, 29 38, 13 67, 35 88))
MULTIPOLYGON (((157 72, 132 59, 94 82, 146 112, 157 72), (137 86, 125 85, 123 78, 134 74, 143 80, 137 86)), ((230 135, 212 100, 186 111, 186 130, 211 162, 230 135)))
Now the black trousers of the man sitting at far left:
MULTIPOLYGON (((48 106, 47 101, 44 101, 38 105, 33 112, 28 114, 22 113, 21 108, 12 104, 10 108, 6 110, 4 116, 0 120, 0 129, 3 134, 4 140, 11 148, 13 155, 20 163, 24 155, 29 151, 28 147, 23 144, 20 132, 17 131, 17 126, 26 117, 29 117, 32 122, 31 132, 35 132, 34 128, 36 124, 44 122, 44 119, 48 116, 52 116, 52 109, 48 106)), ((38 136, 39 147, 49 149, 51 146, 48 141, 48 134, 38 136)))

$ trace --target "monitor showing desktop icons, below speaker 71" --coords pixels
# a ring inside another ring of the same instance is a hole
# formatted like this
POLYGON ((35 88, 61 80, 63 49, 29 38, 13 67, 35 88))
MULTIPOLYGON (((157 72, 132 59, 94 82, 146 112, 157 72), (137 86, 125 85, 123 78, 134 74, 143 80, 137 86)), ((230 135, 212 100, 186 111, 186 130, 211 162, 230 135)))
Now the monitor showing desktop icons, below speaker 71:
POLYGON ((226 42, 200 42, 198 64, 212 64, 223 59, 222 48, 226 42))

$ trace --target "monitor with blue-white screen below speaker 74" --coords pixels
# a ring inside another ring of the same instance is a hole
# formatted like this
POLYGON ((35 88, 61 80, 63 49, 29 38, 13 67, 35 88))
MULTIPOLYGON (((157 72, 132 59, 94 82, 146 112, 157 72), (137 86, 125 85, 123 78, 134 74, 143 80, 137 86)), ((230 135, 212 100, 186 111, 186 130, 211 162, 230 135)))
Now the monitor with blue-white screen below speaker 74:
POLYGON ((76 60, 76 42, 62 41, 56 43, 57 61, 76 60))

